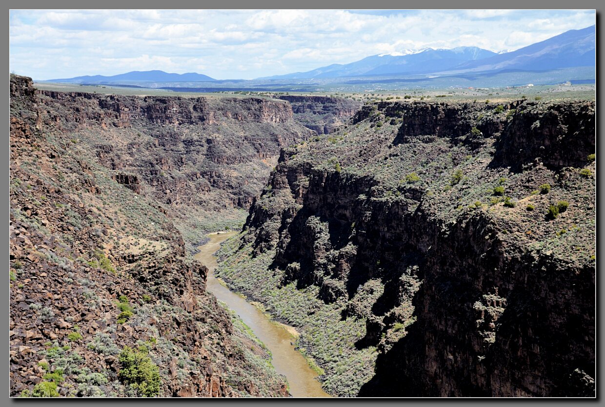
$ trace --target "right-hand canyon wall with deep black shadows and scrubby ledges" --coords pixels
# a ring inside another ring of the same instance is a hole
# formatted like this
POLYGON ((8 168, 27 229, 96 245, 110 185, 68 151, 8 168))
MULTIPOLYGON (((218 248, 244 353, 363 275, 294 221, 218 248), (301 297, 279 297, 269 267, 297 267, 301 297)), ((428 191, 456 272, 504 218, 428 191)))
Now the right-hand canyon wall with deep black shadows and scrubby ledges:
POLYGON ((594 102, 352 123, 283 152, 220 275, 306 333, 334 394, 594 396, 594 102))

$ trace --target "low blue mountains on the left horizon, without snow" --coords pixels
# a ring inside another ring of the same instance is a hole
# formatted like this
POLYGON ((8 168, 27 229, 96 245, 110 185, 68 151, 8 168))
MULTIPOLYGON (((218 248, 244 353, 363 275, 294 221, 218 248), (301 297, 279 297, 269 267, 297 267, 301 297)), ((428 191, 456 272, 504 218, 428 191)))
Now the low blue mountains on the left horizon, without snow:
POLYGON ((215 80, 207 75, 194 72, 186 74, 166 73, 164 71, 132 71, 114 76, 77 76, 67 79, 50 79, 46 82, 67 83, 120 83, 120 82, 207 82, 215 80))

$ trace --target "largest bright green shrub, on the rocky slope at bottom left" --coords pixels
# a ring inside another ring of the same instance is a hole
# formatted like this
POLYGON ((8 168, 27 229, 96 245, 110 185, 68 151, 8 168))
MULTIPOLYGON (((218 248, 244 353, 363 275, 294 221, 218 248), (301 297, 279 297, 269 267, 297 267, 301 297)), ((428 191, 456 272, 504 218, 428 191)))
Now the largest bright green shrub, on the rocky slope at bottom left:
POLYGON ((155 397, 159 395, 160 369, 147 354, 125 347, 120 353, 119 362, 120 382, 134 388, 140 396, 155 397))

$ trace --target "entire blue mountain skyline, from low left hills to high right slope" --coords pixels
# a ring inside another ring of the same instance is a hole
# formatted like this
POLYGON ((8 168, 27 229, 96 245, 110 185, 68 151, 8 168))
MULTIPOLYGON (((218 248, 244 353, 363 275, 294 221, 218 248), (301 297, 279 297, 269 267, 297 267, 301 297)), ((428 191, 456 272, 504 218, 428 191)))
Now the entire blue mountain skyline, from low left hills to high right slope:
MULTIPOLYGON (((569 70, 569 68, 577 67, 595 67, 595 46, 595 25, 592 25, 581 30, 566 31, 516 51, 494 53, 478 47, 457 47, 451 50, 423 48, 378 54, 352 63, 333 63, 327 67, 307 72, 261 77, 255 80, 215 80, 198 73, 175 74, 155 70, 132 71, 114 76, 78 76, 68 79, 51 79, 45 82, 195 89, 200 85, 196 85, 194 82, 206 82, 208 85, 201 86, 211 86, 212 88, 220 86, 221 83, 224 83, 226 88, 241 88, 243 82, 252 86, 251 84, 255 81, 281 84, 290 83, 290 80, 350 83, 347 81, 350 81, 351 78, 358 78, 358 82, 362 82, 360 77, 367 77, 372 81, 379 80, 379 82, 385 82, 388 78, 402 77, 410 78, 410 80, 453 76, 468 77, 469 75, 485 77, 497 73, 535 73, 569 70), (341 78, 349 79, 343 81, 341 78)), ((586 68, 582 72, 584 75, 586 68)), ((571 76, 571 79, 578 78, 571 76)), ((580 77, 580 79, 584 78, 580 77)), ((587 77, 587 79, 590 78, 587 77)), ((515 79, 515 83, 523 83, 523 79, 515 79)))

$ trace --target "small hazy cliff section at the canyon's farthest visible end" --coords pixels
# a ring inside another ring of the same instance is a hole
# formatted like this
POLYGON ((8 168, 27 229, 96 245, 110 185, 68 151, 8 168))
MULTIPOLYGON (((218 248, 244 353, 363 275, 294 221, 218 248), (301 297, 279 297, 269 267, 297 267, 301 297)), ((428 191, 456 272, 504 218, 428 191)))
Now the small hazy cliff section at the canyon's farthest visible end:
POLYGON ((318 134, 335 132, 363 105, 361 101, 331 96, 279 95, 275 97, 287 100, 292 106, 296 121, 318 134))

